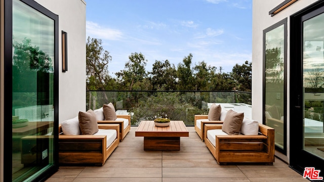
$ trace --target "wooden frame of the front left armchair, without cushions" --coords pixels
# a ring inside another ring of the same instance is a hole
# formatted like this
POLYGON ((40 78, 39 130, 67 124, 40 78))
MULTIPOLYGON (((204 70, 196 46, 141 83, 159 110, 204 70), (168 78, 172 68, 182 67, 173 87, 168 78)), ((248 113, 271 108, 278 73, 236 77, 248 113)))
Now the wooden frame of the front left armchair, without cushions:
MULTIPOLYGON (((118 124, 98 124, 99 129, 115 129, 118 124)), ((62 133, 61 125, 59 133, 62 133)), ((59 134, 59 164, 103 165, 119 144, 119 134, 107 148, 106 135, 64 135, 59 134)))

